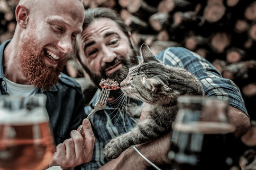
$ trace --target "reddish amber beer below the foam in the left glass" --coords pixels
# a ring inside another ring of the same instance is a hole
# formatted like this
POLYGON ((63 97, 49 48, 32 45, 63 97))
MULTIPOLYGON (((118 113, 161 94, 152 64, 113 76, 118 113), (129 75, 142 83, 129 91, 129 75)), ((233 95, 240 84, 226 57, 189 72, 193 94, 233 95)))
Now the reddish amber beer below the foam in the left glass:
POLYGON ((22 126, 0 125, 0 170, 43 170, 51 162, 54 149, 47 122, 22 126), (37 131, 38 136, 33 134, 37 131), (19 135, 13 139, 2 139, 4 133, 19 135))

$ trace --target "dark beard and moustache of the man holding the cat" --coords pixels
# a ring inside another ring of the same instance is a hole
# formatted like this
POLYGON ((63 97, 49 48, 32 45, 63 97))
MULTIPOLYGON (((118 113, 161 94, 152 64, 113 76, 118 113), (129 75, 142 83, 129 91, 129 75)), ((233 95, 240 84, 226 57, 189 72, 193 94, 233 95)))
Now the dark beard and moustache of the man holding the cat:
MULTIPOLYGON (((82 65, 82 66, 85 69, 85 71, 88 73, 88 75, 91 77, 91 80, 93 81, 93 83, 95 85, 97 85, 99 88, 101 88, 100 85, 99 85, 99 83, 101 81, 101 78, 113 79, 113 80, 117 81, 119 83, 119 85, 120 85, 120 83, 128 75, 129 68, 138 64, 137 53, 136 53, 136 51, 134 49, 132 49, 132 51, 131 51, 130 55, 128 56, 128 58, 129 58, 129 60, 127 60, 124 56, 118 56, 112 62, 106 63, 105 67, 101 68, 101 75, 93 74, 87 67, 85 67, 84 65, 82 65), (106 75, 105 68, 108 68, 110 66, 115 65, 119 61, 121 61, 122 67, 118 71, 114 72, 113 74, 106 75)), ((122 91, 120 89, 111 90, 110 97, 117 98, 121 93, 122 93, 122 91)))

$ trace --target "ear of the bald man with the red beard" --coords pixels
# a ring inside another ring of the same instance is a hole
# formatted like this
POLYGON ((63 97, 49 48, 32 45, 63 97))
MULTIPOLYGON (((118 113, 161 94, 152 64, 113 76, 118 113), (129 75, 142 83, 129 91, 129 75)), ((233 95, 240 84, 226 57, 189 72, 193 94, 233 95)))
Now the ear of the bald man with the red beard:
POLYGON ((17 23, 22 28, 27 27, 28 13, 29 13, 29 10, 24 5, 18 5, 15 10, 15 17, 16 17, 17 23))

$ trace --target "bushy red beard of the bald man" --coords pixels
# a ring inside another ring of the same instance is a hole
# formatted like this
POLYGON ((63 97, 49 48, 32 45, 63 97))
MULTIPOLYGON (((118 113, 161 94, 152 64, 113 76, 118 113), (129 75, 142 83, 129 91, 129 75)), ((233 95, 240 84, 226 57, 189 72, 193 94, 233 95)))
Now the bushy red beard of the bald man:
POLYGON ((66 58, 59 59, 56 67, 46 64, 44 62, 46 54, 33 33, 23 38, 18 48, 18 67, 29 84, 48 90, 58 82, 66 58))

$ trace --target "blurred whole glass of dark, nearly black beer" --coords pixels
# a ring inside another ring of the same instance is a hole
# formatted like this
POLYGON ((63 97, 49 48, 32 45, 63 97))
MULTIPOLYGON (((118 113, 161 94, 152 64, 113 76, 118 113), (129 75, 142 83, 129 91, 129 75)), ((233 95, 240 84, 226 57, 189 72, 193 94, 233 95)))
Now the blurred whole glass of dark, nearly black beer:
POLYGON ((168 152, 176 170, 239 170, 228 101, 207 97, 178 98, 178 113, 168 152))

